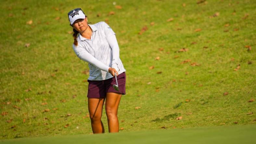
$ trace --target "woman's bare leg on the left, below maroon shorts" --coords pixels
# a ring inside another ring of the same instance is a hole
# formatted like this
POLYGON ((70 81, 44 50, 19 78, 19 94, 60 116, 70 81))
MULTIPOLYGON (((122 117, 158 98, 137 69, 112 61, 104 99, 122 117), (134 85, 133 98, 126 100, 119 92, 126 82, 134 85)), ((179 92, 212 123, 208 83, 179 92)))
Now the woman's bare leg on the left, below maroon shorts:
POLYGON ((104 126, 101 121, 103 103, 105 98, 88 98, 88 110, 90 113, 93 133, 104 133, 104 126))

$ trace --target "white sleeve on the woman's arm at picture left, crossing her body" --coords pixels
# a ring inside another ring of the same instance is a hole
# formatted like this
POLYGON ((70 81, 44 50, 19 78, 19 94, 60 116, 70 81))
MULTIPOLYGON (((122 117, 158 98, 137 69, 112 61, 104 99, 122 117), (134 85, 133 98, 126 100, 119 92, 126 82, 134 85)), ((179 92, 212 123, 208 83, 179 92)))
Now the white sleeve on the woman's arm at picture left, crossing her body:
POLYGON ((75 54, 77 55, 77 57, 79 57, 81 60, 86 61, 96 67, 98 67, 99 69, 109 72, 109 66, 103 64, 102 62, 100 62, 99 60, 97 60, 94 56, 92 56, 90 53, 88 53, 83 47, 81 46, 75 46, 73 44, 73 50, 75 52, 75 54))

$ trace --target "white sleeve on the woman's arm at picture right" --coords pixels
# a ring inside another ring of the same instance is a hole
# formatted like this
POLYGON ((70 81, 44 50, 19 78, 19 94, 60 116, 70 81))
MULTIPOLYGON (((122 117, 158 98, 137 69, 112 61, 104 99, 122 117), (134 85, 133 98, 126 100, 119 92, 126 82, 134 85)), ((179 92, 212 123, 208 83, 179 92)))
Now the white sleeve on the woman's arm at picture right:
POLYGON ((116 35, 111 35, 107 37, 107 41, 109 42, 109 46, 112 49, 112 65, 117 64, 118 65, 118 60, 119 60, 119 46, 118 42, 116 39, 116 35))

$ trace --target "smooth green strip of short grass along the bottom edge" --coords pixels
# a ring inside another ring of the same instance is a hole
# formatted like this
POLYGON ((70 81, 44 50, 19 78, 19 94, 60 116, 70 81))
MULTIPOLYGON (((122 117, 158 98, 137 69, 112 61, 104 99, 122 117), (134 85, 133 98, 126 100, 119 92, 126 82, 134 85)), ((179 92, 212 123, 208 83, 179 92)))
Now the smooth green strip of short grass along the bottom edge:
POLYGON ((169 130, 148 130, 139 132, 108 133, 95 135, 58 136, 42 138, 17 138, 1 140, 3 144, 252 144, 255 143, 256 125, 216 126, 169 130))

